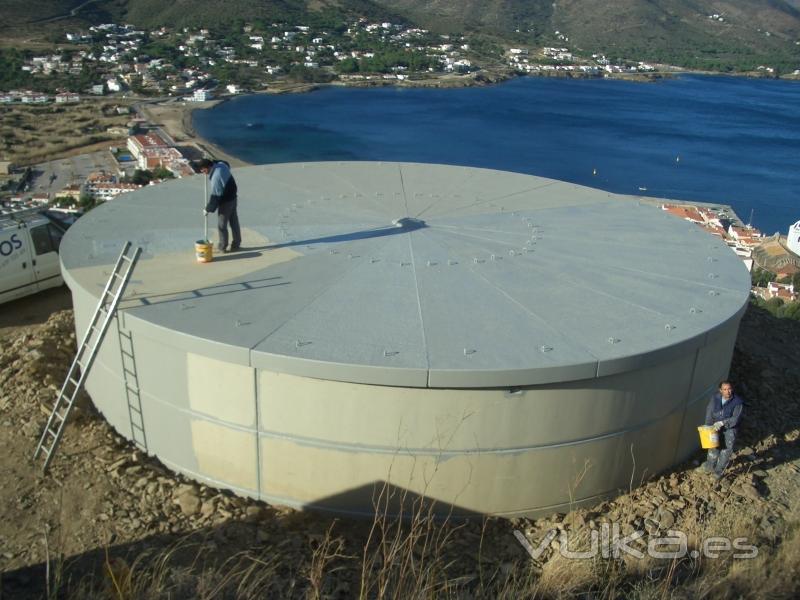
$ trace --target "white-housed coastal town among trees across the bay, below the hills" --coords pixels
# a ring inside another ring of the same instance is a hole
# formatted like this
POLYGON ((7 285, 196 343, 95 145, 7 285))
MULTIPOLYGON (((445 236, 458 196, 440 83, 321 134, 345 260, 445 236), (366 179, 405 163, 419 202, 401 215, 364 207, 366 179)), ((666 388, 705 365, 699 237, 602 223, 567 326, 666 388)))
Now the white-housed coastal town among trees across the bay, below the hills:
MULTIPOLYGON (((602 54, 578 54, 569 37, 556 32, 554 46, 517 46, 505 51, 507 69, 548 75, 601 77, 642 73, 652 65, 630 57, 612 64, 602 54)), ((279 78, 330 81, 467 75, 486 65, 497 70, 504 50, 473 43, 467 35, 446 35, 401 23, 365 18, 341 27, 304 23, 245 23, 238 33, 210 32, 207 28, 161 27, 152 31, 132 25, 105 23, 88 31, 65 34, 66 48, 25 59, 22 69, 37 77, 87 71, 93 81, 72 94, 172 95, 203 102, 220 93, 258 89, 279 78), (165 51, 171 47, 171 51, 165 51), (479 51, 476 48, 480 48, 479 51), (235 66, 235 68, 229 68, 235 66), (360 77, 353 77, 358 75, 360 77), (391 77, 386 77, 390 75, 391 77), (227 90, 232 86, 232 90, 227 90)), ((76 77, 77 79, 77 77, 76 77)), ((71 97, 72 98, 72 97, 71 97)), ((0 97, 0 102, 48 102, 0 97)), ((79 99, 56 102, 77 102, 79 99)))

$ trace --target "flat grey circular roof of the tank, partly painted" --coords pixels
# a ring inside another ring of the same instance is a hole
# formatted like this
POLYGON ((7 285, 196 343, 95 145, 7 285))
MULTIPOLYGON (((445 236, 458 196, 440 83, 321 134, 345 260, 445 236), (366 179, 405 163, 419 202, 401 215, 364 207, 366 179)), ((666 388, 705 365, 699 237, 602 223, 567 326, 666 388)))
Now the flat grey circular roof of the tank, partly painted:
POLYGON ((447 388, 656 364, 704 345, 748 299, 720 239, 632 196, 430 164, 233 173, 241 251, 196 262, 202 176, 150 186, 68 231, 73 293, 99 297, 129 239, 143 248, 121 306, 133 332, 278 372, 447 388))

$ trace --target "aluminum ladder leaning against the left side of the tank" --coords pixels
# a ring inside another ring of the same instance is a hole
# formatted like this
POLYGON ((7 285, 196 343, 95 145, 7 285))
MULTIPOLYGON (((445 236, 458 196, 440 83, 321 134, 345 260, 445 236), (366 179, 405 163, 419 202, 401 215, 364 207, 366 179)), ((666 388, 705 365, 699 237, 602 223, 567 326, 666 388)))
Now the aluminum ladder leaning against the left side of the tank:
POLYGON ((116 314, 117 305, 125 293, 125 287, 128 285, 131 272, 136 266, 136 261, 139 260, 139 255, 142 253, 141 248, 137 247, 135 250, 131 250, 131 246, 130 242, 125 242, 125 247, 122 249, 117 263, 114 265, 114 270, 106 282, 106 287, 100 295, 100 301, 97 303, 92 320, 86 329, 81 345, 78 347, 78 352, 75 354, 75 359, 69 368, 64 385, 61 386, 61 391, 56 397, 56 402, 47 419, 47 425, 45 425, 42 437, 39 439, 39 444, 36 446, 33 458, 38 459, 40 456, 44 456, 42 471, 47 471, 50 466, 50 461, 53 459, 58 443, 61 441, 61 435, 64 433, 64 426, 67 424, 67 418, 75 399, 83 388, 86 376, 89 374, 92 363, 94 363, 94 359, 97 356, 97 350, 103 341, 111 320, 116 314))

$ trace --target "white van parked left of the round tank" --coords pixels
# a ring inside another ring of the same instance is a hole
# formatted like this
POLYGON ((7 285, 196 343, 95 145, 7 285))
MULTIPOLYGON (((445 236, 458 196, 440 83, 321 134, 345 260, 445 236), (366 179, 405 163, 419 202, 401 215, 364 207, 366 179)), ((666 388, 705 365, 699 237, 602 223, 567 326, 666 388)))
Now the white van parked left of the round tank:
POLYGON ((71 220, 43 209, 0 213, 0 304, 64 283, 58 248, 71 220))

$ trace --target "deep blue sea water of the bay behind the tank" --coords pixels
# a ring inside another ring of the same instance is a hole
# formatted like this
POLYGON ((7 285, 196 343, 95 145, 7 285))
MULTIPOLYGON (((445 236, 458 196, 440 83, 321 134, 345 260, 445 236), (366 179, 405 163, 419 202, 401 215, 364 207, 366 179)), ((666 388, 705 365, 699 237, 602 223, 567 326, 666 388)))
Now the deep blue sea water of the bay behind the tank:
POLYGON ((470 165, 730 204, 745 221, 752 210, 770 234, 800 219, 796 82, 687 75, 647 84, 529 77, 462 89, 332 87, 243 96, 195 111, 193 124, 255 164, 470 165))

